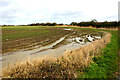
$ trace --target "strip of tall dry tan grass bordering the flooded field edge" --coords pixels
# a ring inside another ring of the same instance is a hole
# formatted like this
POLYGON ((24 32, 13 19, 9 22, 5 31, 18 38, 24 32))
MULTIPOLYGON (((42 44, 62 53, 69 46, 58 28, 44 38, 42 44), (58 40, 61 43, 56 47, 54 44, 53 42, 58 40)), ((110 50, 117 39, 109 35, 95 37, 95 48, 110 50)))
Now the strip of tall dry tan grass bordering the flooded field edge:
POLYGON ((110 42, 111 34, 92 42, 88 46, 66 51, 58 58, 27 60, 3 69, 3 78, 76 78, 76 70, 88 66, 96 51, 110 42))

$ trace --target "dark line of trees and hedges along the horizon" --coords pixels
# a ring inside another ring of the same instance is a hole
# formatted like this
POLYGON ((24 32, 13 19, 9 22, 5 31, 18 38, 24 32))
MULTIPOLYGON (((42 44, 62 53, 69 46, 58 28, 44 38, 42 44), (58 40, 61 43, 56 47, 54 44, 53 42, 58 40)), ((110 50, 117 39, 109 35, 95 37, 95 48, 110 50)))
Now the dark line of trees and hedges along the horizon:
MULTIPOLYGON (((27 24, 27 25, 17 25, 17 26, 62 26, 62 25, 69 25, 69 26, 83 26, 83 27, 96 27, 96 28, 110 28, 110 27, 119 27, 120 26, 120 21, 113 21, 113 22, 97 22, 97 20, 93 19, 92 21, 87 21, 87 22, 72 22, 70 24, 57 24, 57 23, 32 23, 32 24, 27 24)), ((16 26, 16 25, 2 25, 2 26, 16 26)))

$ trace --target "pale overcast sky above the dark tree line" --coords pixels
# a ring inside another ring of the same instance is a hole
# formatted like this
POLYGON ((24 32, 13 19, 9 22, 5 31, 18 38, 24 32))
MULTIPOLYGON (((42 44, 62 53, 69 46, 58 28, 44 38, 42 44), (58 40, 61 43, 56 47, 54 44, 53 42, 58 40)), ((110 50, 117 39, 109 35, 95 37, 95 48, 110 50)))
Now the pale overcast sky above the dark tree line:
POLYGON ((0 0, 0 25, 118 21, 119 0, 0 0))

